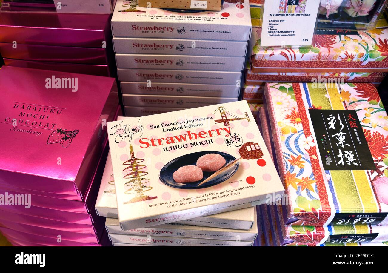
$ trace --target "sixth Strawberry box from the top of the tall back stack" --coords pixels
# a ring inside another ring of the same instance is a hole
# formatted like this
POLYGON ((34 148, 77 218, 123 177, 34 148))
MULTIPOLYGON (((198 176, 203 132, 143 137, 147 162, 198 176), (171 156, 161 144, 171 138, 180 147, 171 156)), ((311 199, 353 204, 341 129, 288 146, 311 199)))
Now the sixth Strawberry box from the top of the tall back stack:
POLYGON ((123 94, 125 106, 196 108, 238 101, 237 97, 154 96, 123 94))

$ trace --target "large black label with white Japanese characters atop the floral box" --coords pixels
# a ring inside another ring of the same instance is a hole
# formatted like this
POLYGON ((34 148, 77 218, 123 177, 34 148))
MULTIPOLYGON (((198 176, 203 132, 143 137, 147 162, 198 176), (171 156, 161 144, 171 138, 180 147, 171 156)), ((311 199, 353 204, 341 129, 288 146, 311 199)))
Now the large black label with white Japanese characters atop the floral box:
POLYGON ((355 110, 309 110, 325 170, 375 170, 355 110))

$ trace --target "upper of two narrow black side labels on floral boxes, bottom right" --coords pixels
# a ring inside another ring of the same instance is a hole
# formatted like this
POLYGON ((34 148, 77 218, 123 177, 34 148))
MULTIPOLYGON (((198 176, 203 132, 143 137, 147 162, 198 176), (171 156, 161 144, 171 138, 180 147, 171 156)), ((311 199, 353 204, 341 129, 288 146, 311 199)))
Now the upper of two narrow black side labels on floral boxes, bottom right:
POLYGON ((388 216, 388 213, 384 212, 361 212, 361 213, 336 213, 332 225, 354 225, 354 224, 380 224, 388 216))

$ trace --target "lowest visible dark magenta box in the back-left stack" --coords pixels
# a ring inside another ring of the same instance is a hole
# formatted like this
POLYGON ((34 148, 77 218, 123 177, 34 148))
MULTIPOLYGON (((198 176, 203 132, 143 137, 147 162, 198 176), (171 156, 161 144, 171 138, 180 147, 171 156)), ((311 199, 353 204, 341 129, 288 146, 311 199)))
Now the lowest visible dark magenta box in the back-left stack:
POLYGON ((88 74, 103 77, 114 77, 116 74, 115 66, 107 64, 73 64, 73 63, 55 63, 42 61, 26 61, 19 59, 4 58, 5 65, 24 68, 35 68, 52 71, 62 71, 71 73, 88 74))

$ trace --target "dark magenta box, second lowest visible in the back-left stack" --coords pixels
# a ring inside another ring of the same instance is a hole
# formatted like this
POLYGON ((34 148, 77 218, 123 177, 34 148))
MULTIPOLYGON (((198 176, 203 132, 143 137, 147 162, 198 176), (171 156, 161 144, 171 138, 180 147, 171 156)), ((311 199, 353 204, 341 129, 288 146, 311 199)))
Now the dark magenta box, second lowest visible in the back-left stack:
POLYGON ((110 52, 103 48, 61 47, 52 45, 30 45, 1 43, 0 53, 4 58, 27 61, 57 63, 107 64, 110 52))

